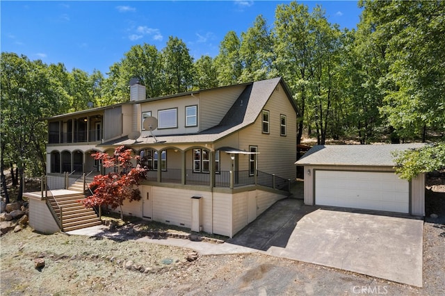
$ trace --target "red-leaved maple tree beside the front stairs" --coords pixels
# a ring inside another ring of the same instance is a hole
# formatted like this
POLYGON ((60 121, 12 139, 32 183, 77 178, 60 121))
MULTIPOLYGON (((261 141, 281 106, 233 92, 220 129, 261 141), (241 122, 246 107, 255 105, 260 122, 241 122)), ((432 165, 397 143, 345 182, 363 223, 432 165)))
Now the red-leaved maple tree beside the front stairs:
POLYGON ((123 219, 122 205, 124 200, 129 202, 140 200, 140 191, 135 186, 145 179, 145 169, 136 165, 133 167, 131 160, 138 160, 139 156, 131 156, 131 149, 120 146, 115 149, 113 155, 98 152, 91 155, 101 160, 104 167, 116 167, 115 172, 95 176, 90 183, 90 189, 94 189, 92 195, 83 199, 87 208, 93 206, 110 206, 113 210, 120 208, 120 218, 123 219))

